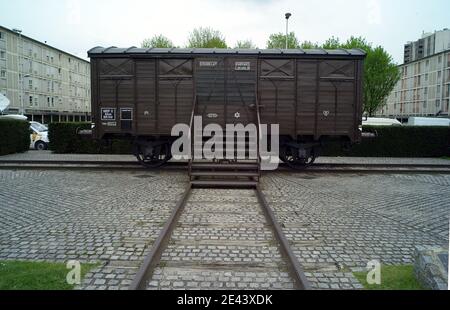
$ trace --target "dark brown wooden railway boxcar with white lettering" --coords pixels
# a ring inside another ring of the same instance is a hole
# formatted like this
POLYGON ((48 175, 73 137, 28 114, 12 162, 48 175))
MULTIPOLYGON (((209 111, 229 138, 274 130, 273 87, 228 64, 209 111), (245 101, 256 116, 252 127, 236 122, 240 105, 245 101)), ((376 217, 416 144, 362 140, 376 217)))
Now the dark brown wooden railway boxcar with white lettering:
POLYGON ((95 47, 88 55, 97 139, 170 141, 193 107, 204 125, 222 126, 256 123, 258 108, 262 123, 279 124, 281 143, 309 155, 330 138, 361 139, 359 49, 95 47))

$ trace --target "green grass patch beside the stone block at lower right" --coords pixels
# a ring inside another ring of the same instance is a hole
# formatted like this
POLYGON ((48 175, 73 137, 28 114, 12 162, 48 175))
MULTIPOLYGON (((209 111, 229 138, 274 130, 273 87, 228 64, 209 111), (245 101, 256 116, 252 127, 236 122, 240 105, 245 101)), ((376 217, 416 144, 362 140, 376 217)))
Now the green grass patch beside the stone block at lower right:
POLYGON ((423 290, 425 289, 414 275, 413 265, 382 266, 381 284, 369 285, 367 272, 354 272, 353 275, 367 290, 423 290))

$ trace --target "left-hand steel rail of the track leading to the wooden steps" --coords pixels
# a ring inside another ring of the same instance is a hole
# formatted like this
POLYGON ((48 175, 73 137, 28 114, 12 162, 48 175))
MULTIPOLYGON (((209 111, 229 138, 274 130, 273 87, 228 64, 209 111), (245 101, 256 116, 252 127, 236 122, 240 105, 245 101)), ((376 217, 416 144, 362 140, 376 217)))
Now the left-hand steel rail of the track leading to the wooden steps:
POLYGON ((158 238, 153 243, 152 249, 150 250, 149 254, 145 257, 144 262, 142 263, 133 282, 129 287, 129 290, 144 290, 146 288, 146 281, 152 276, 153 271, 155 270, 161 259, 161 255, 164 249, 169 243, 172 232, 175 229, 178 219, 180 218, 180 215, 184 210, 187 200, 189 199, 191 189, 192 186, 189 184, 180 200, 177 202, 175 208, 173 208, 169 219, 164 224, 164 227, 159 233, 158 238))

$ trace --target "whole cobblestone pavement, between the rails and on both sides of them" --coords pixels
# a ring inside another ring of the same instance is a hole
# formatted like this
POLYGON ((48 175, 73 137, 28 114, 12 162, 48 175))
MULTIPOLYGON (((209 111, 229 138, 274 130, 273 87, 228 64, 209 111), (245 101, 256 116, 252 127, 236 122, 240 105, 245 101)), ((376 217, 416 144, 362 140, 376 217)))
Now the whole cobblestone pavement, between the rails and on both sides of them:
MULTIPOLYGON (((262 180, 315 288, 361 288, 351 270, 372 259, 409 264, 415 245, 448 245, 450 175, 273 173, 262 180)), ((187 177, 0 170, 0 184, 0 259, 99 262, 79 288, 126 289, 187 177)), ((255 199, 251 191, 197 190, 149 288, 290 287, 255 199), (204 268, 202 258, 216 268, 204 268), (229 268, 235 259, 251 267, 229 268)))

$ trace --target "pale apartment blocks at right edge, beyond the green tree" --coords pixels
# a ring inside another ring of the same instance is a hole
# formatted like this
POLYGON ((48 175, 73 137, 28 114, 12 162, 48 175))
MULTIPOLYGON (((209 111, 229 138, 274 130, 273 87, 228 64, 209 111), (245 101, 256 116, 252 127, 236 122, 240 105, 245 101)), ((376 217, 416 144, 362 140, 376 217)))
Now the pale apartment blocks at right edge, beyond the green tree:
POLYGON ((413 47, 410 55, 405 50, 405 63, 399 66, 401 78, 377 116, 400 120, 411 116, 449 117, 450 31, 436 32, 421 40, 418 48, 426 48, 419 51, 413 47))

